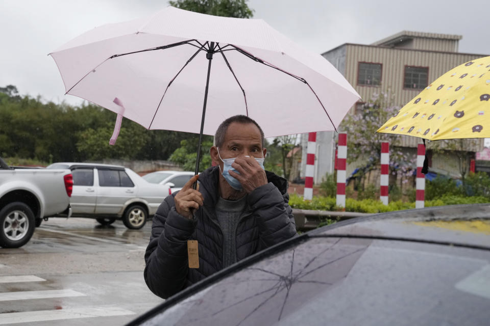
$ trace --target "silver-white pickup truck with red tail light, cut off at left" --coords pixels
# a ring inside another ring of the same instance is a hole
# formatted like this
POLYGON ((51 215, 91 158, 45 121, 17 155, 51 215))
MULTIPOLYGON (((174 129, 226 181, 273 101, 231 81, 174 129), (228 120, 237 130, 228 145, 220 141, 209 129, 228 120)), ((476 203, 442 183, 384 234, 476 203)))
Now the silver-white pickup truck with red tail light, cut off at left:
POLYGON ((0 247, 26 244, 50 216, 71 215, 68 169, 11 168, 0 158, 0 247))

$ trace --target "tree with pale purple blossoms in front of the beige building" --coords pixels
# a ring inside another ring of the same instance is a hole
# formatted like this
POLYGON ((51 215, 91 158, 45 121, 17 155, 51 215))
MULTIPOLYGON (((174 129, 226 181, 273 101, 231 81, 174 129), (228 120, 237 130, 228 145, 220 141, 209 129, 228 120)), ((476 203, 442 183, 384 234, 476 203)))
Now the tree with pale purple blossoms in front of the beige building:
MULTIPOLYGON (((366 173, 371 173, 380 164, 381 143, 390 143, 390 172, 391 175, 410 176, 415 166, 414 155, 396 148, 399 135, 377 133, 378 128, 391 116, 396 115, 399 106, 391 104, 387 93, 375 94, 371 102, 366 103, 362 111, 348 115, 340 124, 339 129, 348 133, 347 160, 348 162, 362 162, 359 168, 359 177, 362 179, 366 173)), ((404 180, 405 182, 408 180, 404 180)), ((363 184, 363 183, 362 183, 363 184)))

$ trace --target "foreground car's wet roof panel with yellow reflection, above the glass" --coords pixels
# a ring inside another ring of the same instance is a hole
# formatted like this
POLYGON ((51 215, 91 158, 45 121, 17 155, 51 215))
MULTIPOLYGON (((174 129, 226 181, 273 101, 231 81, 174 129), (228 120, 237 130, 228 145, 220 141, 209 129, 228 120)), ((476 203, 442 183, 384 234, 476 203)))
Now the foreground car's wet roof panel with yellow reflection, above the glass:
POLYGON ((490 249, 490 204, 448 205, 374 214, 334 223, 310 235, 444 242, 490 249))

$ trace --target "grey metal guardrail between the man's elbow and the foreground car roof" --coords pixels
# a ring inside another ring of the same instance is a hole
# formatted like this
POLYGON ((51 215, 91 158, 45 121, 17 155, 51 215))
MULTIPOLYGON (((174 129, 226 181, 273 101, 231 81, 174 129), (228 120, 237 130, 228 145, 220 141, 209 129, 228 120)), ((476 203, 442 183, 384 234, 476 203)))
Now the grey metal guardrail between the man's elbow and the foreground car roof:
POLYGON ((295 215, 296 230, 298 231, 308 231, 311 229, 315 229, 318 227, 318 225, 320 225, 322 221, 325 221, 327 219, 344 221, 357 218, 358 216, 372 215, 369 213, 309 210, 298 208, 293 208, 292 214, 295 215))

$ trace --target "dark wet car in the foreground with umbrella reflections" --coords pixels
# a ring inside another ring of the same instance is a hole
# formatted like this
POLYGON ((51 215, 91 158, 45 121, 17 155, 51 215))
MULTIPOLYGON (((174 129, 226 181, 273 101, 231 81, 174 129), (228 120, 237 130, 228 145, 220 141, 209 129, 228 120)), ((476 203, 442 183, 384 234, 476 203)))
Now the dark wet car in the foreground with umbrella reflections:
POLYGON ((129 325, 488 325, 490 205, 376 214, 313 230, 170 297, 129 325))

